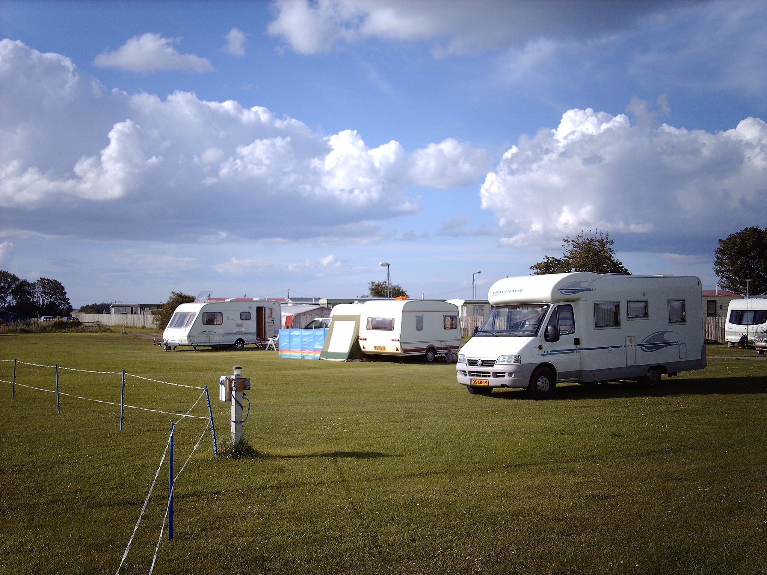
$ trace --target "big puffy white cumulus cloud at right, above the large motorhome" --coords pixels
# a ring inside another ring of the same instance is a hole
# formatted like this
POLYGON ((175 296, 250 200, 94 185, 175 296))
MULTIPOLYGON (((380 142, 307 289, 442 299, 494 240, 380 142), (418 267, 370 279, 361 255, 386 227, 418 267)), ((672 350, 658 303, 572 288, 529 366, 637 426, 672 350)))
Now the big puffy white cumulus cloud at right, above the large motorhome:
MULTIPOLYGON (((665 111, 666 100, 659 100, 665 111)), ((502 244, 556 245, 582 229, 642 248, 699 249, 744 225, 765 224, 767 124, 746 118, 708 133, 642 113, 568 110, 555 130, 522 136, 480 190, 502 244)))

